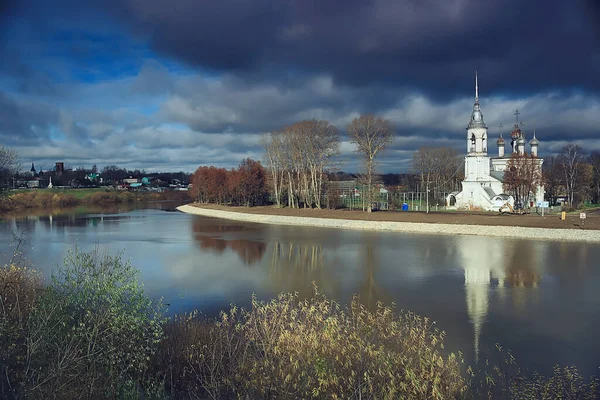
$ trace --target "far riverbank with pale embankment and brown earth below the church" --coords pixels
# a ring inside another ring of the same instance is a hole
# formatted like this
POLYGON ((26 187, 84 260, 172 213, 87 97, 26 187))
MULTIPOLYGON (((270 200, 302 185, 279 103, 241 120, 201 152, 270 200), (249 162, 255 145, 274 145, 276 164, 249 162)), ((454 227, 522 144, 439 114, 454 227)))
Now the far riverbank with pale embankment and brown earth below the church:
POLYGON ((275 225, 299 225, 422 234, 476 235, 600 243, 600 216, 590 214, 585 226, 575 215, 498 215, 468 213, 295 210, 272 207, 225 207, 188 204, 179 211, 206 217, 275 225))

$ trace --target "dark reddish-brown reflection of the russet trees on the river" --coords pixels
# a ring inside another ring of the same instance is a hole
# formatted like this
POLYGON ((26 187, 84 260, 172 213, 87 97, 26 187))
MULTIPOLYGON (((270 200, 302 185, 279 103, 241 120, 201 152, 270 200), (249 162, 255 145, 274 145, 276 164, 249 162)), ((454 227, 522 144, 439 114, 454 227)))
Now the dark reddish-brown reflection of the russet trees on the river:
POLYGON ((207 218, 197 218, 192 224, 194 239, 201 249, 211 250, 217 254, 222 254, 230 249, 236 253, 246 265, 253 265, 260 262, 267 250, 264 242, 250 239, 226 239, 228 233, 250 233, 250 236, 256 237, 260 234, 261 226, 249 225, 227 225, 219 220, 210 220, 207 218))

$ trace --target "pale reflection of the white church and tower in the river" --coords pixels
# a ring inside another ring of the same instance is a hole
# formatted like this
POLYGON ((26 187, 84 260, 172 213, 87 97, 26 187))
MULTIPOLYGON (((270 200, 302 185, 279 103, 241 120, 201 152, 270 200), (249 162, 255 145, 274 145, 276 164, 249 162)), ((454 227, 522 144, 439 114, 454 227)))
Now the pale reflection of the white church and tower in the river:
POLYGON ((477 362, 490 296, 497 295, 500 300, 510 297, 514 308, 521 308, 528 296, 524 290, 538 287, 543 260, 539 259, 540 251, 531 248, 531 241, 477 236, 459 236, 456 240, 459 265, 464 269, 467 314, 473 325, 477 362))

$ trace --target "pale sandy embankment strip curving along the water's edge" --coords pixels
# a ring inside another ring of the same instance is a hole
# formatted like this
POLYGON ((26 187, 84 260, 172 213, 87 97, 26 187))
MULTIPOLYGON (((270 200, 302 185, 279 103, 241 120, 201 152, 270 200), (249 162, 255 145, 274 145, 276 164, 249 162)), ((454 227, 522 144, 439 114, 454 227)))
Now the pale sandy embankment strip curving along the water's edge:
POLYGON ((407 232, 445 235, 476 235, 540 240, 600 242, 600 231, 579 229, 527 228, 518 226, 484 226, 460 224, 430 224, 416 222, 364 221, 332 218, 291 217, 281 215, 247 214, 183 205, 179 211, 188 214, 223 218, 234 221, 274 225, 299 225, 322 228, 343 228, 371 231, 407 232))

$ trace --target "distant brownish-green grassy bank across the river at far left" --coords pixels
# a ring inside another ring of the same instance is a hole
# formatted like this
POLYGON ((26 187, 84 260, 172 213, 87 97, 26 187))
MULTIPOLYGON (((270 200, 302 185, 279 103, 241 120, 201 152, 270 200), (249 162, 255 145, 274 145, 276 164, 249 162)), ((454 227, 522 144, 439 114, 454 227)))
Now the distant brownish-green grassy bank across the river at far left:
POLYGON ((113 205, 144 201, 188 200, 187 192, 128 192, 93 189, 30 189, 17 190, 0 196, 0 212, 30 208, 62 208, 80 205, 113 205))

